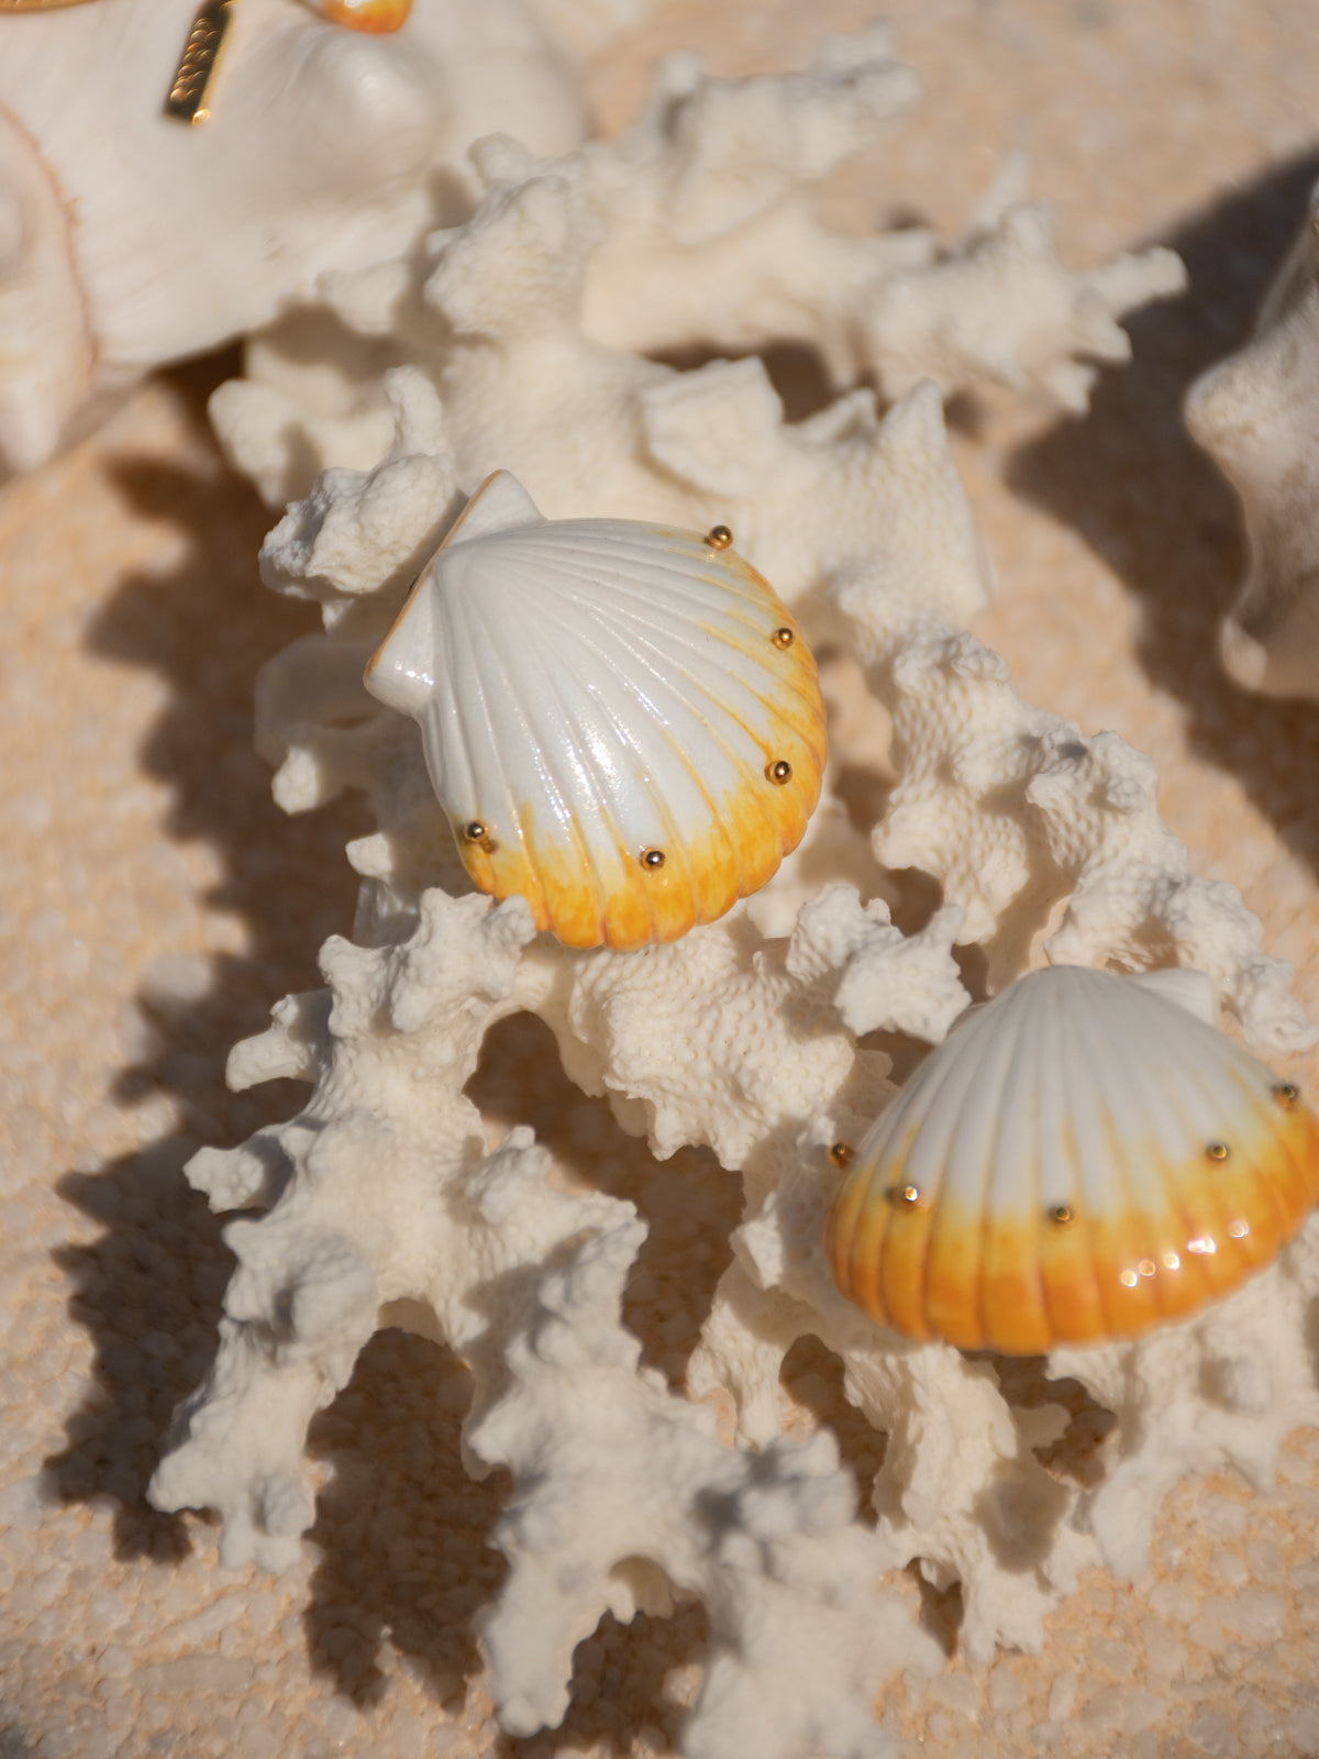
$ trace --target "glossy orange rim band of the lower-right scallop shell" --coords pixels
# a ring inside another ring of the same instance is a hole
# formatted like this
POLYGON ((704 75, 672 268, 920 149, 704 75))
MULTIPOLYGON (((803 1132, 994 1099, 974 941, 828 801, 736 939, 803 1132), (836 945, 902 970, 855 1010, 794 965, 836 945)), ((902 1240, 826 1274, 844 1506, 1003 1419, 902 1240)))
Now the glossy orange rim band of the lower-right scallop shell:
POLYGON ((902 1163, 860 1152, 842 1179, 825 1223, 839 1289, 907 1337, 1029 1356, 1138 1337, 1270 1263, 1319 1198, 1319 1122, 1270 1096, 1235 1108, 1224 1161, 1206 1145, 1170 1164, 1157 1143, 1131 1142, 1127 1164, 1154 1175, 1141 1180, 1145 1207, 1076 1205, 1062 1224, 1043 1205, 906 1203, 902 1163))

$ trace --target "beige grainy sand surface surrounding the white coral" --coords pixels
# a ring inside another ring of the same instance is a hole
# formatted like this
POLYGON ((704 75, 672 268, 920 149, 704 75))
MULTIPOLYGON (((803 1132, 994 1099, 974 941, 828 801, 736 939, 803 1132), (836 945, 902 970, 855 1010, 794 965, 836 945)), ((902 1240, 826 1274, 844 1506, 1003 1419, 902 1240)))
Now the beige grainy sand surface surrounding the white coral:
MULTIPOLYGON (((1134 364, 1103 376, 1085 420, 1004 399, 953 412, 1001 577, 978 633, 1031 700, 1159 760, 1196 869, 1242 888, 1319 1013, 1319 707, 1254 700, 1215 665, 1242 545, 1178 422, 1319 171, 1319 11, 888 14, 925 99, 837 178, 835 218, 951 227, 1020 146, 1066 260, 1134 241, 1185 257, 1191 292, 1133 320, 1134 364)), ((668 0, 601 56, 600 113, 619 125, 667 49, 725 72, 788 67, 867 16, 851 0, 668 0)), ((352 918, 343 843, 364 828, 352 804, 281 818, 251 755, 255 670, 310 617, 259 586, 269 519, 209 443, 200 399, 225 369, 146 387, 0 494, 0 1755, 665 1754, 698 1678, 695 1609, 607 1625, 579 1650, 565 1729, 498 1736, 473 1618, 501 1573, 485 1543, 501 1485, 464 1479, 464 1370, 429 1344, 378 1335, 317 1421, 327 1483, 290 1576, 223 1574, 208 1518, 142 1502, 171 1409, 209 1361, 230 1263, 179 1166, 290 1110, 292 1087, 227 1094, 223 1059, 315 983, 318 943, 352 918)), ((677 1379, 726 1263, 733 1180, 703 1154, 656 1166, 547 1043, 505 1025, 478 1096, 637 1196, 652 1233, 630 1317, 677 1379)), ((1289 1073, 1319 1087, 1315 1059, 1289 1073)), ((804 1409, 832 1409, 823 1354, 798 1351, 788 1383, 804 1409)), ((864 1435, 844 1427, 844 1442, 872 1465, 864 1435)), ((955 1604, 932 1604, 953 1662, 932 1683, 899 1678, 885 1726, 941 1759, 1319 1754, 1317 1516, 1319 1434, 1301 1432, 1268 1493, 1215 1478, 1170 1495, 1152 1573, 1089 1576, 1043 1655, 967 1668, 955 1604)))

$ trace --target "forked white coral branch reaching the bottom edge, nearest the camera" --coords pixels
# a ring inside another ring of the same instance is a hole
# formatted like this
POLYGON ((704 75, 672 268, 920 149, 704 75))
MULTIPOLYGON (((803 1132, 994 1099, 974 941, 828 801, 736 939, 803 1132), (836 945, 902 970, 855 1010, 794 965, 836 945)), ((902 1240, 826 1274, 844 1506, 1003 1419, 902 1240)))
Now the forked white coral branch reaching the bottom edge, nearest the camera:
POLYGON ((468 1427, 468 1446, 517 1485, 494 1534, 512 1569, 484 1624, 499 1720, 515 1734, 561 1720, 573 1646, 603 1611, 626 1620, 695 1595, 711 1653, 689 1759, 869 1759, 879 1683, 937 1664, 881 1587, 895 1553, 853 1525, 830 1437, 726 1449, 709 1411, 638 1369, 617 1319, 638 1231, 543 1275, 508 1390, 468 1427))

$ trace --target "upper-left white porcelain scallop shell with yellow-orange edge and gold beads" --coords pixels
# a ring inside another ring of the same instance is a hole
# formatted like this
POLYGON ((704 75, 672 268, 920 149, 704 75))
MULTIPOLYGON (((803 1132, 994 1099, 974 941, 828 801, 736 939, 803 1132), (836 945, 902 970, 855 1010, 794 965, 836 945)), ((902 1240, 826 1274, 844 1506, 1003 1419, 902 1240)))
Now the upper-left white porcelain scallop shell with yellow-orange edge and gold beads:
POLYGON ((549 521, 498 471, 424 570, 368 690, 422 726, 482 892, 568 946, 714 922, 820 795, 816 665, 716 528, 549 521))

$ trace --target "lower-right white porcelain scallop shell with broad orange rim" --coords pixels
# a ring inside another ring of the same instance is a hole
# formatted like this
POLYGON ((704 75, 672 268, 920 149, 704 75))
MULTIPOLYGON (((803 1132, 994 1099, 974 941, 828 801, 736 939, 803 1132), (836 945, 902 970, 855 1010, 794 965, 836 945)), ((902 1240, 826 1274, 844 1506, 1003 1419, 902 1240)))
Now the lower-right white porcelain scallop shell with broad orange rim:
POLYGON ((841 1291, 909 1337, 1034 1354, 1178 1319, 1266 1265, 1319 1194, 1319 1124, 1170 999, 1187 980, 1053 966, 964 1015, 834 1196, 841 1291))

